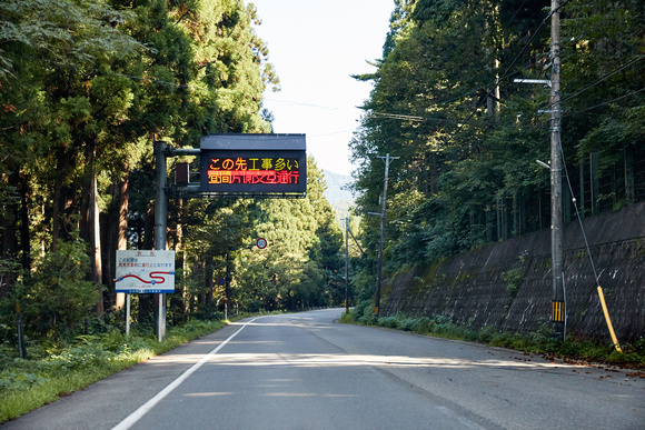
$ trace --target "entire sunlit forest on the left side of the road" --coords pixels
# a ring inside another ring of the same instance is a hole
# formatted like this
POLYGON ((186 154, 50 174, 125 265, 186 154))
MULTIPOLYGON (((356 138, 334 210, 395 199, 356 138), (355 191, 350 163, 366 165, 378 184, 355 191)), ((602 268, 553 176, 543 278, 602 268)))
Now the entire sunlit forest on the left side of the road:
MULTIPOLYGON (((18 309, 30 339, 122 323, 116 250, 158 246, 155 141, 271 132, 262 94, 279 80, 259 24, 241 0, 0 2, 2 341, 18 309)), ((221 318, 225 297, 240 312, 341 303, 343 233, 307 170, 302 199, 170 199, 170 324, 221 318)), ((132 300, 152 327, 153 294, 132 300)))

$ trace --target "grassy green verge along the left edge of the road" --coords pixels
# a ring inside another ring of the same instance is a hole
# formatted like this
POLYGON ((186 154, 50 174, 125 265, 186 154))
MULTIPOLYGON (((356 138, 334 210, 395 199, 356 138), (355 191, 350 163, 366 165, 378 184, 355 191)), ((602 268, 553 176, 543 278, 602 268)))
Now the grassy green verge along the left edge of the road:
MULTIPOLYGON (((231 320, 239 318, 242 316, 231 320)), ((162 342, 153 334, 126 336, 119 330, 109 330, 79 336, 70 343, 31 343, 27 360, 18 358, 13 346, 0 346, 0 423, 214 332, 226 323, 191 320, 169 328, 162 342)))

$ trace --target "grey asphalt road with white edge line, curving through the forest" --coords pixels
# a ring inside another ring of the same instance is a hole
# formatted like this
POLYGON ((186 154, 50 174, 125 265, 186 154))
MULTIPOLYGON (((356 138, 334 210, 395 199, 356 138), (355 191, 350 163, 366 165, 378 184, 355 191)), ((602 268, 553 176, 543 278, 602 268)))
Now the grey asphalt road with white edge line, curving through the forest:
POLYGON ((335 323, 246 319, 7 429, 645 429, 645 380, 335 323))

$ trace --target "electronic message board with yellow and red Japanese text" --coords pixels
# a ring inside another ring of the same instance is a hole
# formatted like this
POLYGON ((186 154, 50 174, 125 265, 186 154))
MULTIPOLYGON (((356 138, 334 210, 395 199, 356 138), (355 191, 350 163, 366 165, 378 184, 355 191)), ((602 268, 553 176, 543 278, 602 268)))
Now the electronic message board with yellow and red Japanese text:
POLYGON ((201 139, 200 191, 305 194, 305 134, 210 134, 201 139))

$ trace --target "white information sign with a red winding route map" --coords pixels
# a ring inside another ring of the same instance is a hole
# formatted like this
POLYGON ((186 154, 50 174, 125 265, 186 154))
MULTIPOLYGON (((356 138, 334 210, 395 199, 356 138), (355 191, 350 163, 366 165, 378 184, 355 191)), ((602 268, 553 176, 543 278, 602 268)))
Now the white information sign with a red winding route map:
POLYGON ((175 292, 175 251, 117 251, 117 292, 175 292))

